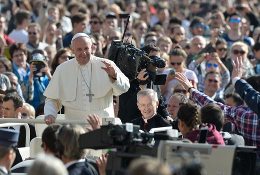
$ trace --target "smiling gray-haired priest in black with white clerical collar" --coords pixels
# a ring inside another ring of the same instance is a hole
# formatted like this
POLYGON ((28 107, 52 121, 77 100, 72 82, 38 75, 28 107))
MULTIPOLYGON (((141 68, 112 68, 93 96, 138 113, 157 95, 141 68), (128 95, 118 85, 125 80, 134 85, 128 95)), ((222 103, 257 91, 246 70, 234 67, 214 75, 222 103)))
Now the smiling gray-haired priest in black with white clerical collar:
POLYGON ((171 126, 169 121, 165 120, 156 111, 159 105, 156 91, 145 88, 137 93, 137 106, 142 116, 132 120, 133 124, 140 125, 140 129, 149 131, 151 128, 171 126))

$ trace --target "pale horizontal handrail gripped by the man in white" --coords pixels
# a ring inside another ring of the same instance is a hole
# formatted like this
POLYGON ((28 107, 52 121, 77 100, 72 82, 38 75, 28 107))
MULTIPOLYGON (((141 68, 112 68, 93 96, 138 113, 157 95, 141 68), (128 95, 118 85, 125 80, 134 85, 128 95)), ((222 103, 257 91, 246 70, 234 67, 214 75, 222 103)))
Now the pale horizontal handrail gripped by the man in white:
MULTIPOLYGON (((0 123, 3 122, 15 122, 15 123, 43 123, 44 119, 27 119, 27 118, 0 118, 0 123)), ((56 119, 55 123, 59 124, 89 124, 87 120, 76 120, 76 119, 56 119)))

